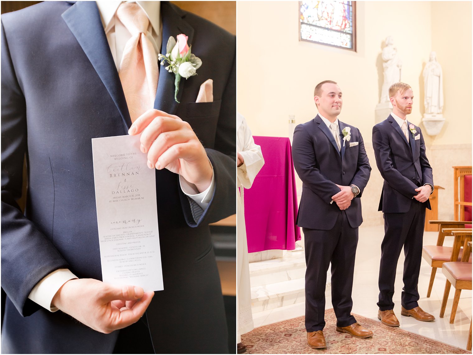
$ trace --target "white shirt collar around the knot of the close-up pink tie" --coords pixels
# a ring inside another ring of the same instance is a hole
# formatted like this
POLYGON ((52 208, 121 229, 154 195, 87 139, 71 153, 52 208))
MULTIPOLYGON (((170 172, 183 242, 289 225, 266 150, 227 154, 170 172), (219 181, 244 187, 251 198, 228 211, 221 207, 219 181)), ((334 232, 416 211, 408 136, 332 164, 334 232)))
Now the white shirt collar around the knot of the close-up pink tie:
MULTIPOLYGON (((123 1, 118 0, 98 0, 97 8, 100 12, 100 17, 102 18, 102 25, 104 25, 105 33, 108 31, 107 28, 109 25, 112 25, 110 22, 115 15, 116 10, 123 1)), ((154 29, 154 32, 159 35, 160 26, 161 26, 161 17, 160 17, 160 1, 130 1, 136 2, 140 5, 141 9, 144 10, 146 16, 149 18, 149 23, 154 29)))

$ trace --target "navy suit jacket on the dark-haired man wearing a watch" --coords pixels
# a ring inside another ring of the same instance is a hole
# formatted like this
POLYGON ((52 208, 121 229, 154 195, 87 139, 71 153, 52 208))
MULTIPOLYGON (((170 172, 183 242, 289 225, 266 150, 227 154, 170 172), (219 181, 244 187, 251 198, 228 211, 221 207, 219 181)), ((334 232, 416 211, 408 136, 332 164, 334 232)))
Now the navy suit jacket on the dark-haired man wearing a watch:
POLYGON ((332 196, 340 192, 335 185, 355 184, 360 192, 351 200, 346 215, 352 228, 359 227, 361 217, 360 197, 368 183, 371 167, 366 155, 363 138, 358 128, 339 122, 342 149, 339 152, 332 132, 319 115, 294 130, 292 158, 302 180, 302 196, 297 224, 299 227, 329 230, 335 225, 340 209, 332 196), (350 142, 343 146, 342 130, 350 127, 350 142), (358 145, 350 146, 350 143, 358 145))

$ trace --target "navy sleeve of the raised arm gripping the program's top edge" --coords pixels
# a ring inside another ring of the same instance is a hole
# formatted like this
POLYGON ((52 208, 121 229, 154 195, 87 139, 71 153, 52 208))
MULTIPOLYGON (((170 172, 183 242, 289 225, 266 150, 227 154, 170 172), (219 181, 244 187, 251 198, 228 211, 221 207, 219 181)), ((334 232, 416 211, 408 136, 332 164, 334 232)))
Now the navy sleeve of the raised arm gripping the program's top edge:
POLYGON ((213 149, 205 148, 213 166, 215 189, 207 209, 197 221, 193 218, 187 197, 184 193, 180 194, 184 217, 190 227, 217 222, 236 213, 236 37, 232 38, 233 41, 226 44, 233 53, 233 63, 222 96, 215 145, 213 149))

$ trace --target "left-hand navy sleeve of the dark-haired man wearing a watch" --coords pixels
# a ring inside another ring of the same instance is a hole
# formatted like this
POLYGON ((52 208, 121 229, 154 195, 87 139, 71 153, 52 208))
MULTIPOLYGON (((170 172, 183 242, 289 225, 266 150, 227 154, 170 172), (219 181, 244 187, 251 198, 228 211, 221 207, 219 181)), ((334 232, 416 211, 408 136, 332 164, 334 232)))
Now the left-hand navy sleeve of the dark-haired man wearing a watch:
POLYGON ((312 138, 307 129, 301 125, 298 125, 294 130, 292 159, 294 168, 304 185, 329 204, 332 201, 332 196, 340 192, 340 188, 327 179, 317 168, 312 138))

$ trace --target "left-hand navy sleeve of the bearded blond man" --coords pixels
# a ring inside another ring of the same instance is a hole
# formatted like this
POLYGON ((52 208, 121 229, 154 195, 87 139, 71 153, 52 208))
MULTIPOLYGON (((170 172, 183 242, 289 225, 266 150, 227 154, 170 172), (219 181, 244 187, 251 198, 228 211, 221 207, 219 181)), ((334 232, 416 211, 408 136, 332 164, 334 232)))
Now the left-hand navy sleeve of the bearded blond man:
POLYGON ((415 191, 417 185, 394 168, 389 137, 382 128, 377 126, 373 127, 373 148, 375 150, 376 165, 385 182, 409 199, 417 195, 415 191))

